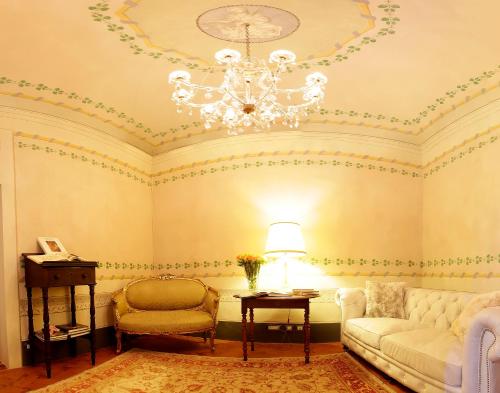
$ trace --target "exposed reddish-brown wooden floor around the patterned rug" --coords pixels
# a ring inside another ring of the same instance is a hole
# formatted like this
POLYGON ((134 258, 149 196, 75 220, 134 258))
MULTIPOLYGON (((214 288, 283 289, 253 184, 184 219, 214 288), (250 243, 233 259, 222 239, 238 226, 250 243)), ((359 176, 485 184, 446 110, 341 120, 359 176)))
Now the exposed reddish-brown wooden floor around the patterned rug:
MULTIPOLYGON (((134 340, 135 347, 154 351, 175 352, 191 355, 217 356, 217 357, 241 357, 241 342, 216 340, 216 350, 210 352, 208 344, 203 343, 202 338, 197 337, 140 337, 134 340)), ((249 357, 287 357, 303 356, 304 348, 301 344, 269 344, 256 343, 255 352, 249 352, 249 357)), ((342 352, 340 343, 316 343, 311 344, 312 355, 326 355, 342 352)), ((115 355, 114 348, 106 347, 97 351, 96 364, 104 363, 112 359, 115 355)), ((411 393, 399 383, 380 373, 368 363, 357 358, 360 363, 370 372, 376 374, 384 380, 398 393, 411 393)), ((22 367, 17 369, 0 370, 0 392, 21 393, 32 389, 38 389, 51 383, 69 378, 90 368, 90 355, 78 355, 75 358, 54 360, 52 362, 52 378, 45 377, 45 367, 43 363, 34 367, 22 367)))

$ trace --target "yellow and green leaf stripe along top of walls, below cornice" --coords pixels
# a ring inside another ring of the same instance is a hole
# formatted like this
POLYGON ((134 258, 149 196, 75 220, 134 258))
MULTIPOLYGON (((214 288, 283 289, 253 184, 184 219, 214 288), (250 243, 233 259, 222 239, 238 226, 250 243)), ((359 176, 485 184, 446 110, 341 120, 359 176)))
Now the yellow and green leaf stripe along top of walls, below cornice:
POLYGON ((289 150, 247 153, 241 155, 219 157, 205 161, 195 161, 190 164, 173 167, 168 170, 155 173, 148 173, 128 164, 127 162, 109 157, 107 154, 103 154, 97 152, 96 150, 55 138, 44 137, 36 134, 28 134, 25 132, 17 132, 15 136, 18 138, 31 139, 35 141, 31 143, 17 141, 17 147, 19 149, 43 151, 47 154, 58 155, 59 157, 80 160, 95 167, 110 170, 116 174, 126 176, 131 180, 140 182, 147 186, 159 186, 161 184, 219 172, 228 172, 249 168, 271 168, 288 166, 323 166, 357 170, 362 169, 373 172, 399 174, 411 178, 423 177, 424 179, 426 179, 427 177, 439 172, 448 165, 457 162, 459 159, 479 151, 486 145, 490 145, 496 142, 498 140, 498 135, 491 135, 488 139, 480 141, 478 140, 480 138, 487 137, 489 134, 494 133, 499 129, 500 124, 489 127, 485 131, 477 133, 471 138, 464 140, 461 144, 455 145, 438 157, 430 160, 425 165, 417 165, 411 162, 405 162, 396 159, 370 156, 367 154, 347 153, 341 151, 289 150), (53 144, 58 148, 53 148, 47 145, 44 146, 43 144, 37 142, 53 144), (475 145, 471 145, 472 143, 475 143, 475 145), (459 151, 461 149, 462 151, 459 151), (455 152, 456 154, 453 154, 455 152), (304 159, 296 158, 297 156, 304 156, 304 159), (446 159, 446 157, 448 156, 450 156, 450 158, 446 159), (92 157, 97 157, 98 159, 92 157), (279 157, 282 158, 279 159, 279 157), (329 159, 332 157, 345 157, 349 159, 329 159), (249 159, 252 159, 252 162, 248 162, 249 159), (234 163, 234 161, 237 160, 247 161, 234 163), (368 161, 370 163, 367 164, 359 161, 368 161), (396 166, 402 168, 398 168, 396 166))

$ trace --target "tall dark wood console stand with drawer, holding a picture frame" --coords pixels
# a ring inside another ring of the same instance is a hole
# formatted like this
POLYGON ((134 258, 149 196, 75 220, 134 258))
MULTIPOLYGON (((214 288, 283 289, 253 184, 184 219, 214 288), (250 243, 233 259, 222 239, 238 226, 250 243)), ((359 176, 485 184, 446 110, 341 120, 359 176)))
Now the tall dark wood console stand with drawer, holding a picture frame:
MULTIPOLYGON (((66 287, 69 286, 71 294, 71 325, 76 325, 76 304, 75 304, 75 286, 88 285, 90 293, 90 333, 86 336, 90 339, 90 353, 92 365, 95 365, 95 303, 94 303, 94 287, 95 268, 97 262, 88 261, 55 261, 36 263, 28 259, 28 255, 23 254, 26 292, 28 295, 28 331, 31 362, 35 362, 35 348, 41 345, 45 356, 45 369, 47 378, 51 377, 51 343, 49 331, 49 288, 51 287, 66 287), (35 336, 33 326, 33 303, 32 289, 39 287, 42 289, 43 299, 43 337, 41 341, 35 336)), ((74 342, 75 338, 68 338, 70 342, 74 342)))

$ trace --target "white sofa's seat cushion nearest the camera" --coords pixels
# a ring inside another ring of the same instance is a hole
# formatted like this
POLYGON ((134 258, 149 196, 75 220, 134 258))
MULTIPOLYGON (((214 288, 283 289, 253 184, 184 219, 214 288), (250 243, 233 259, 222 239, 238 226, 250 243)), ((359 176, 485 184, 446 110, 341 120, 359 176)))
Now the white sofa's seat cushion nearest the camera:
POLYGON ((452 386, 462 385, 463 346, 448 330, 417 329, 384 336, 381 351, 418 372, 452 386))

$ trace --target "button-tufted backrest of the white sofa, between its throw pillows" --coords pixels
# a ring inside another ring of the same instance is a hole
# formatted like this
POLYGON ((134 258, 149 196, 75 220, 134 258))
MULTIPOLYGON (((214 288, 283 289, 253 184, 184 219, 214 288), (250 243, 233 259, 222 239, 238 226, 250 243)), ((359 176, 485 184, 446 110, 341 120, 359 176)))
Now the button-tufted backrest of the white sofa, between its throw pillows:
POLYGON ((410 321, 446 330, 472 296, 469 292, 406 288, 405 316, 410 321))

